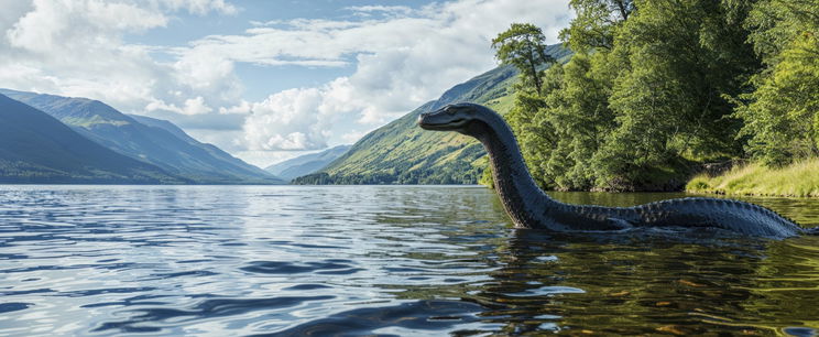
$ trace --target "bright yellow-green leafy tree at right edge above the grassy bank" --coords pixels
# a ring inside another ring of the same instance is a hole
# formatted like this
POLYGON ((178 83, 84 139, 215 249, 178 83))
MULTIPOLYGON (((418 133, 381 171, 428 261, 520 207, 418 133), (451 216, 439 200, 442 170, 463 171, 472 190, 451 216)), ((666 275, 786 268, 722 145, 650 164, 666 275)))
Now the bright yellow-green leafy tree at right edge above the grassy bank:
POLYGON ((760 1, 745 28, 765 64, 735 100, 745 150, 768 166, 819 155, 819 1, 760 1))

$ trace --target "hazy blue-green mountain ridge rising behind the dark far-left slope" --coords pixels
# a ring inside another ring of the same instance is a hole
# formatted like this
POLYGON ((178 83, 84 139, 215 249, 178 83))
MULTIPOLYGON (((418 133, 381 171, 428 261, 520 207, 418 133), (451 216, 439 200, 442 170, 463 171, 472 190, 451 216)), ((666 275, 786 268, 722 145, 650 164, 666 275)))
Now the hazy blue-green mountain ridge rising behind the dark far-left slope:
POLYGON ((127 116, 86 98, 9 89, 0 89, 0 94, 51 115, 108 149, 197 184, 284 183, 211 144, 196 141, 168 121, 127 116))

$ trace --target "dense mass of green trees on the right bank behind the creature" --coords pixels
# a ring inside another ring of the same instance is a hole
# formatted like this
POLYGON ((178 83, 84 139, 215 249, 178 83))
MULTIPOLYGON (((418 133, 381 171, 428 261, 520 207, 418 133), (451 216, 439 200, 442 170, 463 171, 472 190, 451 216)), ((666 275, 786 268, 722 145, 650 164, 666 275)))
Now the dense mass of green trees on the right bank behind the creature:
MULTIPOLYGON (((819 1, 570 6, 560 36, 576 54, 524 77, 506 116, 543 187, 676 189, 705 162, 819 154, 819 1)), ((502 51, 525 74, 510 56, 525 53, 502 51)))

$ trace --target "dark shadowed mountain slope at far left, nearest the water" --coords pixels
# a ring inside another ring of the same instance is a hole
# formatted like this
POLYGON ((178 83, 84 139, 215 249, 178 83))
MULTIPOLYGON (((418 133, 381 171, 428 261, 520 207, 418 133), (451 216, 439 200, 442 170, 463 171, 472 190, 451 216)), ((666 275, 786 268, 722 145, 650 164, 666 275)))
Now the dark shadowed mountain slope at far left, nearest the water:
POLYGON ((106 149, 47 113, 0 95, 0 183, 183 184, 106 149))

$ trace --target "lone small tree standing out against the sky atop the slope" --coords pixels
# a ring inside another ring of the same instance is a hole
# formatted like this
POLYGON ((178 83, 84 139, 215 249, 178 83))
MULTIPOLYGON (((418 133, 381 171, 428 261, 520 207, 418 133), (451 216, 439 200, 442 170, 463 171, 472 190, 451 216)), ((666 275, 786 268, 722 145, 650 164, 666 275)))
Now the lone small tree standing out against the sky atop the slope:
POLYGON ((492 40, 495 57, 503 64, 514 65, 521 72, 524 88, 529 84, 535 94, 542 94, 543 67, 555 59, 546 54, 543 31, 531 23, 513 23, 492 40))

